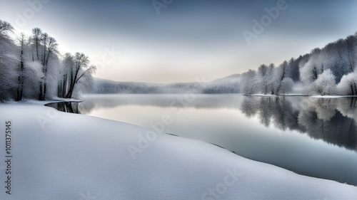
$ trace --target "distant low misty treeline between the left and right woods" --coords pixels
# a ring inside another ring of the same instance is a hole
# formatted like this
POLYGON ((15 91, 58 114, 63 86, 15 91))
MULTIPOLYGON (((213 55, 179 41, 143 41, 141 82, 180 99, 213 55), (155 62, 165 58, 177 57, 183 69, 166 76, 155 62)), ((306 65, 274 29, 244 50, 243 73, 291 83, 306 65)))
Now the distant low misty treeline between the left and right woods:
POLYGON ((136 83, 95 79, 93 93, 97 94, 178 94, 178 93, 240 93, 240 75, 213 80, 209 83, 136 83))

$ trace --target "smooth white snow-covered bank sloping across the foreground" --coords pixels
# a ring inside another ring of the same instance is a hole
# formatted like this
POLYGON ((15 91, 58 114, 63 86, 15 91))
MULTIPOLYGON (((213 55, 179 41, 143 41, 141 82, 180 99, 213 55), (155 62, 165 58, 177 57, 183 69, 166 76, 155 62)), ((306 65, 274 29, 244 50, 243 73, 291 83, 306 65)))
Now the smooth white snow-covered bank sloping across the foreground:
POLYGON ((205 142, 57 112, 36 102, 0 104, 0 124, 1 200, 357 199, 356 186, 301 176, 205 142), (9 120, 10 165, 4 151, 9 120), (6 194, 9 166, 11 194, 6 194))

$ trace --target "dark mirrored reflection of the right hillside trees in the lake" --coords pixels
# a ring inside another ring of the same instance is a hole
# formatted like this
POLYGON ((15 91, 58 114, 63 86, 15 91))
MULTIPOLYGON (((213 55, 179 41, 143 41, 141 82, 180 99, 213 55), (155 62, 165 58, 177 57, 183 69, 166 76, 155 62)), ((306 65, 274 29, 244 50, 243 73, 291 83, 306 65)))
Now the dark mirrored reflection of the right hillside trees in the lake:
POLYGON ((297 130, 313 139, 357 151, 356 98, 246 97, 241 112, 257 116, 261 124, 280 130, 297 130))

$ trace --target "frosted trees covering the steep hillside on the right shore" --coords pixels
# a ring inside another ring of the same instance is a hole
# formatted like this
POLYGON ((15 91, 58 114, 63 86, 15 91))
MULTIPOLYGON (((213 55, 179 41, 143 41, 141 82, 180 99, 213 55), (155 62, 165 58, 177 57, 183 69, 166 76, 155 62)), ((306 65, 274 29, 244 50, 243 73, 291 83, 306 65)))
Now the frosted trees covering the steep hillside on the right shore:
POLYGON ((261 65, 243 73, 242 92, 283 95, 299 83, 307 95, 357 95, 356 46, 357 33, 277 67, 261 65))

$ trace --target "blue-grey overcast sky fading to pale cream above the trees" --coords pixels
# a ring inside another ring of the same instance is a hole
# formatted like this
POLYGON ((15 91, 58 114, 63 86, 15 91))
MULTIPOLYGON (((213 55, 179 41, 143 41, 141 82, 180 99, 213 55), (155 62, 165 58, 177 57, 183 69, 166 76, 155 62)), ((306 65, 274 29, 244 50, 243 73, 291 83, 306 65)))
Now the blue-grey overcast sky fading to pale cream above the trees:
POLYGON ((271 21, 265 8, 279 0, 156 1, 165 7, 152 0, 0 0, 0 19, 16 33, 41 28, 63 54, 86 53, 100 65, 100 78, 150 83, 214 80, 278 65, 357 31, 353 0, 287 0, 271 21), (254 33, 253 20, 262 18, 265 29, 248 44, 243 31, 254 33))

